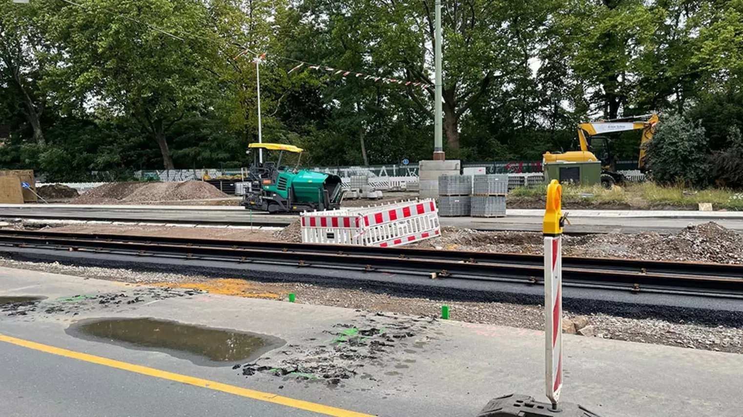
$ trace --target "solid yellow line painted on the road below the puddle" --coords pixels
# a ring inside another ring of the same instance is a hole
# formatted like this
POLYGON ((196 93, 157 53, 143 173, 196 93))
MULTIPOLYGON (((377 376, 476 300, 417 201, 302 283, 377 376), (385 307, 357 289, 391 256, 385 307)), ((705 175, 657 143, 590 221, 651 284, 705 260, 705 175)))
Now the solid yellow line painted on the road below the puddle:
POLYGON ((307 410, 314 413, 325 414, 327 416, 334 417, 374 417, 371 414, 356 413, 355 411, 343 410, 341 408, 330 407, 327 405, 316 404, 309 401, 297 400, 294 398, 282 397, 281 395, 274 395, 271 393, 262 393, 261 391, 248 390, 247 388, 235 387, 234 385, 221 384, 220 382, 210 381, 208 379, 195 378, 188 375, 181 375, 174 372, 167 372, 163 370, 156 370, 155 368, 143 367, 140 365, 129 364, 127 362, 115 361, 114 359, 103 358, 96 355, 88 355, 87 353, 75 352, 74 350, 62 349, 59 347, 53 347, 46 344, 40 344, 32 341, 25 341, 19 338, 13 338, 12 336, 1 335, 0 341, 15 344, 29 349, 40 350, 42 352, 51 353, 52 355, 65 356, 66 358, 78 359, 80 361, 91 362, 93 364, 104 365, 106 367, 117 368, 129 372, 136 372, 142 375, 154 376, 155 378, 167 379, 169 381, 181 382, 183 384, 194 385, 196 387, 208 388, 210 390, 221 391, 223 393, 230 393, 234 395, 240 395, 241 397, 253 398, 254 400, 266 401, 273 404, 282 404, 287 407, 298 408, 299 410, 307 410))

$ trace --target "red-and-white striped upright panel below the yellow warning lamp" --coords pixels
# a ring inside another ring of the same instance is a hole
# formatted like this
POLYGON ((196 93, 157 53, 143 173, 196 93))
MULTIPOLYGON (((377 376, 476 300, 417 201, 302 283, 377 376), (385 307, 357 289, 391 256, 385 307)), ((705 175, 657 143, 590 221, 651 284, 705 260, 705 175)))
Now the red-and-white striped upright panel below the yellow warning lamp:
POLYGON ((557 404, 562 388, 562 234, 545 236, 545 380, 557 404))

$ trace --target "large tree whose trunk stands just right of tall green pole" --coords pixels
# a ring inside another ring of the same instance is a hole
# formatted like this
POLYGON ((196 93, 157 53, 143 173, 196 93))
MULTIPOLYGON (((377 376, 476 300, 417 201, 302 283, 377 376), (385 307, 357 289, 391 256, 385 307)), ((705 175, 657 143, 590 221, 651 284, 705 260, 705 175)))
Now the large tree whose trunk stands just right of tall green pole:
MULTIPOLYGON (((306 1, 305 16, 320 34, 343 23, 346 39, 363 45, 360 58, 379 76, 409 82, 406 94, 421 115, 433 119, 432 47, 434 2, 357 0, 306 1), (322 16, 332 16, 324 19, 322 16), (412 83, 430 85, 421 90, 412 83)), ((518 4, 453 0, 443 6, 444 133, 450 150, 459 148, 460 122, 487 91, 517 68, 528 68, 531 45, 544 11, 539 1, 518 4)))

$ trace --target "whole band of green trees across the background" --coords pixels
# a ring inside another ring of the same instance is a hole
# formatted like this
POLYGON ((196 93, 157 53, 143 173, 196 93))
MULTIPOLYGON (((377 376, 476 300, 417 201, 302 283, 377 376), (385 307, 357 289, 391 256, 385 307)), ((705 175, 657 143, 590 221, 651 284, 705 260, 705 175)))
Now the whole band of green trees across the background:
MULTIPOLYGON (((0 2, 5 168, 84 180, 247 165, 247 144, 258 140, 253 52, 267 53, 265 142, 305 148, 306 165, 431 157, 432 88, 288 69, 296 59, 432 84, 433 1, 80 4, 0 2), (246 47, 253 52, 233 60, 246 47)), ((706 133, 661 117, 656 178, 703 185, 709 143, 708 182, 739 186, 729 131, 743 128, 742 0, 447 0, 442 8, 447 157, 541 160, 570 150, 579 122, 666 112, 701 120, 706 133), (675 134, 663 139, 666 124, 675 134)), ((639 132, 612 139, 617 157, 637 157, 639 132)))

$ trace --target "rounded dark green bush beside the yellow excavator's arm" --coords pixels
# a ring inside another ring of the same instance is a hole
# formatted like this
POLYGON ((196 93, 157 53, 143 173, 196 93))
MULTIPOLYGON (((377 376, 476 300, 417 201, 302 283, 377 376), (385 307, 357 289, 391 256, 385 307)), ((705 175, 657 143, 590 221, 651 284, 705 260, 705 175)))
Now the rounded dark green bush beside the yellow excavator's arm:
POLYGON ((710 170, 708 150, 700 122, 670 116, 658 124, 648 144, 647 165, 658 184, 704 186, 710 170))

